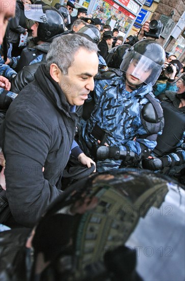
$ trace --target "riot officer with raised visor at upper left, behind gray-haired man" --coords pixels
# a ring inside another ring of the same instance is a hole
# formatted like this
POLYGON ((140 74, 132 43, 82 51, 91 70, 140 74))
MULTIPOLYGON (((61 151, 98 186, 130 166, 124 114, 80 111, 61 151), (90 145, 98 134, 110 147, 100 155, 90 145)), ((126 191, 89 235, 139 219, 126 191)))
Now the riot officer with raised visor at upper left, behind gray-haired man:
POLYGON ((55 8, 42 5, 29 5, 24 9, 25 16, 35 23, 31 27, 33 39, 24 48, 21 56, 9 58, 10 66, 19 72, 24 66, 45 61, 52 39, 62 34, 65 22, 62 14, 55 8))

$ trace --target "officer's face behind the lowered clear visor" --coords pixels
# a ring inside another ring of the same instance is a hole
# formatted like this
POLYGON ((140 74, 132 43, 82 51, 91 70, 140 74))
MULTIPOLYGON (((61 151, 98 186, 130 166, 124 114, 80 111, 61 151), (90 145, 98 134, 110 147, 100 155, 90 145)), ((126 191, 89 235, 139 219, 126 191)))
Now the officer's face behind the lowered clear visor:
POLYGON ((146 70, 142 69, 142 66, 137 68, 137 65, 138 65, 138 60, 133 59, 131 61, 131 63, 129 64, 127 72, 126 72, 126 80, 127 80, 128 84, 130 84, 131 86, 140 85, 151 74, 151 69, 146 71, 146 70), (134 72, 135 72, 135 76, 129 74, 129 73, 134 73, 134 72))

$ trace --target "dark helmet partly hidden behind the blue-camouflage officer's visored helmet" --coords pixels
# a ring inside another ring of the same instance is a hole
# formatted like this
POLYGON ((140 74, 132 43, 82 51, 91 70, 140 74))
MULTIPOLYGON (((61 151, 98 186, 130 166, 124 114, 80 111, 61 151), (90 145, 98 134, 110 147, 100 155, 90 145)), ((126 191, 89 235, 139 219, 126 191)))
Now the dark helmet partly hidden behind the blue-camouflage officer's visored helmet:
POLYGON ((106 59, 108 67, 119 68, 123 60, 125 51, 130 48, 130 45, 124 44, 112 48, 109 51, 108 58, 106 59))

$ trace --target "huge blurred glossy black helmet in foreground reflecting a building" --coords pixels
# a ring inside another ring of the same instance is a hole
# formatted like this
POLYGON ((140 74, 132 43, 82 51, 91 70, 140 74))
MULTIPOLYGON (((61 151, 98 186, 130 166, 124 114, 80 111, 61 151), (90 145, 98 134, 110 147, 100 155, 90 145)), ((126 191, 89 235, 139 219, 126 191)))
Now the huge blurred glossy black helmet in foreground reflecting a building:
POLYGON ((171 179, 141 169, 92 175, 66 189, 38 223, 31 280, 40 252, 50 262, 40 281, 183 280, 183 222, 184 191, 171 179))

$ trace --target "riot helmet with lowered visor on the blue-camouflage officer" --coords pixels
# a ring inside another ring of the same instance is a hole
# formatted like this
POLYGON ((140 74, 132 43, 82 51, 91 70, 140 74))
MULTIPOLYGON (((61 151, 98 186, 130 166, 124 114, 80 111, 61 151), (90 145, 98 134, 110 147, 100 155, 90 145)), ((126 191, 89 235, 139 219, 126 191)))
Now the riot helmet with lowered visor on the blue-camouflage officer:
POLYGON ((126 50, 120 69, 148 85, 154 85, 163 69, 165 56, 159 43, 144 39, 126 50))

